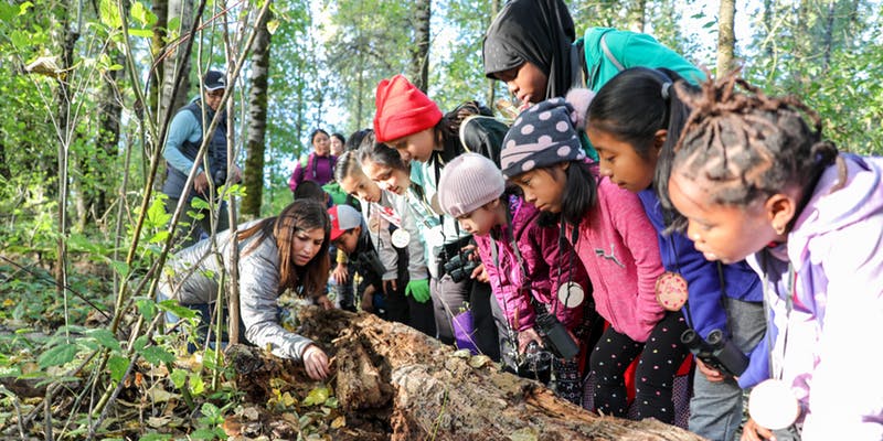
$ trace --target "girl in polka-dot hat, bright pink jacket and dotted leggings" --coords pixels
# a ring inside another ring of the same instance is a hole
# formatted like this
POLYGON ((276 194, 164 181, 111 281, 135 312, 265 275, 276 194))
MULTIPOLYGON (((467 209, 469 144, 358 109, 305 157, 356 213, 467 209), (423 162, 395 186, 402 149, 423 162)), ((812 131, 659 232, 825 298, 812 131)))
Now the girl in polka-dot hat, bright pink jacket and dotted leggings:
POLYGON ((626 416, 624 373, 640 356, 638 418, 672 423, 672 383, 687 357, 679 342, 685 324, 680 312, 666 312, 656 301, 653 284, 662 265, 656 232, 638 197, 597 178, 584 161, 574 123, 583 126, 578 117, 585 110, 554 98, 521 112, 503 141, 502 171, 525 201, 560 215, 561 234, 592 280, 598 313, 610 323, 589 358, 596 408, 626 416))

